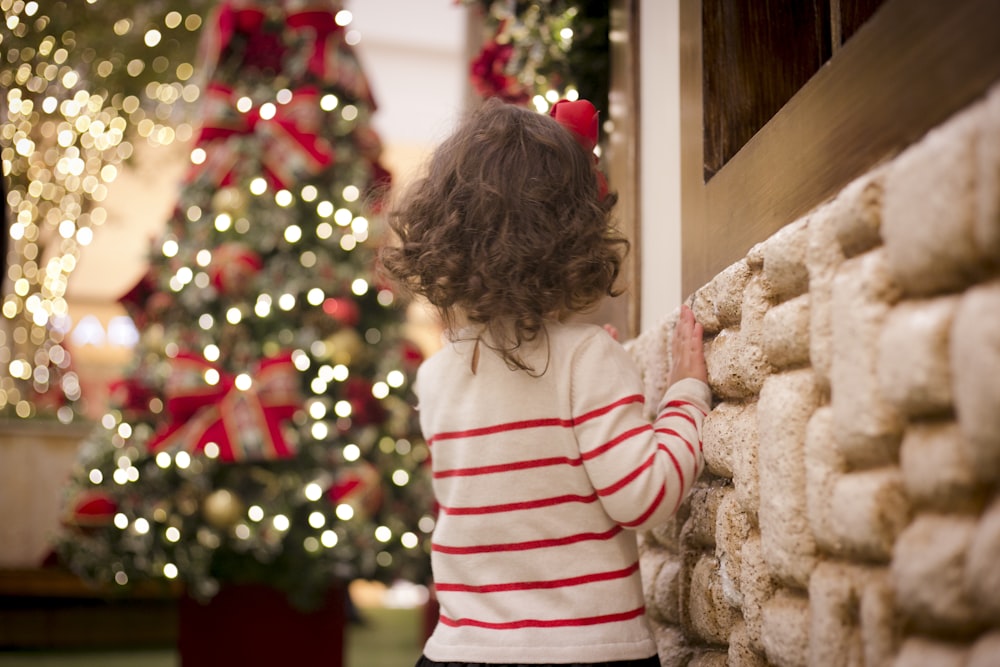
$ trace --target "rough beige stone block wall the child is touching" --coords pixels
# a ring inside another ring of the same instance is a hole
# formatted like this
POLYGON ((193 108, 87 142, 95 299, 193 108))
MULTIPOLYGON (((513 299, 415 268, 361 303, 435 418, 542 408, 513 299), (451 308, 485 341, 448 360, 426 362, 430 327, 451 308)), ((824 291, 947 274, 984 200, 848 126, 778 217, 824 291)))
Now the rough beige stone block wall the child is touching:
MULTIPOLYGON (((707 470, 641 535, 663 665, 1000 665, 1000 88, 690 301, 707 470)), ((631 342, 655 405, 676 313, 631 342)))

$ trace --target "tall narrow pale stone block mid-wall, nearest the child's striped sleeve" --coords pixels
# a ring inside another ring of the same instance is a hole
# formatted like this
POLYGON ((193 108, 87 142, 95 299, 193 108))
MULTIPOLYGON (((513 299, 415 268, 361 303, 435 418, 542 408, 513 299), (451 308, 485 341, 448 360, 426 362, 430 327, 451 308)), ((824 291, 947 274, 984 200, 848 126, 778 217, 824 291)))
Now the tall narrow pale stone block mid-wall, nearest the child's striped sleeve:
POLYGON ((757 403, 761 493, 757 517, 764 558, 774 576, 805 588, 816 562, 805 488, 805 437, 819 404, 810 369, 772 375, 757 403))

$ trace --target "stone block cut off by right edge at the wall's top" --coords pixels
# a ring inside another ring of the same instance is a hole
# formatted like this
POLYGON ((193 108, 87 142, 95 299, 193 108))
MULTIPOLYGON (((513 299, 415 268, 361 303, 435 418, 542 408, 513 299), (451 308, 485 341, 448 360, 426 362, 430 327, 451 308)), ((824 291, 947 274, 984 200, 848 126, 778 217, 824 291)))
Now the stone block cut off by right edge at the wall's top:
POLYGON ((984 103, 982 135, 976 149, 976 246, 994 267, 1000 265, 1000 86, 984 103))

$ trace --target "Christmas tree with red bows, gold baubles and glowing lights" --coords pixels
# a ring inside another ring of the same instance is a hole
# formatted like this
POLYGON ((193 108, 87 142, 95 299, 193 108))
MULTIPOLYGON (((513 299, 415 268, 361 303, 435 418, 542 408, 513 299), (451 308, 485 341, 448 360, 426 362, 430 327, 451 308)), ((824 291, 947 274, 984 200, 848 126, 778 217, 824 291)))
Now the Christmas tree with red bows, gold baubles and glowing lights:
MULTIPOLYGON (((302 607, 427 577, 421 355, 375 274, 389 174, 331 2, 224 2, 201 129, 144 279, 115 402, 83 443, 59 543, 84 578, 266 583, 302 607)), ((113 585, 112 585, 113 586, 113 585)))

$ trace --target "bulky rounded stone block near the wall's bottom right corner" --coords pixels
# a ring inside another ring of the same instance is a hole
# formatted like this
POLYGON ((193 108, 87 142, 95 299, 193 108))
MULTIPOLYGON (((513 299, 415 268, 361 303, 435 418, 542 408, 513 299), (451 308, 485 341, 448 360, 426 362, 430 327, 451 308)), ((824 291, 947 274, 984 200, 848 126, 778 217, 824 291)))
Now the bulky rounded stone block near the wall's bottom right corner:
POLYGON ((935 634, 968 632, 979 626, 965 583, 965 554, 975 519, 923 514, 899 536, 890 572, 896 604, 910 627, 935 634))

